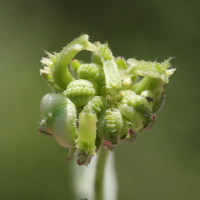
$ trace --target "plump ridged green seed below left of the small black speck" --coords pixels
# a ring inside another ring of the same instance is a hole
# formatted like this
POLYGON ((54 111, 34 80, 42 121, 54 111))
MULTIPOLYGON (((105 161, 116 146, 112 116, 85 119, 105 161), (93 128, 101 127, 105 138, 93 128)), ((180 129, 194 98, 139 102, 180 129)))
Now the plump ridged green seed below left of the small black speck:
POLYGON ((134 125, 134 130, 141 130, 151 122, 152 108, 145 97, 140 95, 125 96, 118 106, 123 116, 134 125))

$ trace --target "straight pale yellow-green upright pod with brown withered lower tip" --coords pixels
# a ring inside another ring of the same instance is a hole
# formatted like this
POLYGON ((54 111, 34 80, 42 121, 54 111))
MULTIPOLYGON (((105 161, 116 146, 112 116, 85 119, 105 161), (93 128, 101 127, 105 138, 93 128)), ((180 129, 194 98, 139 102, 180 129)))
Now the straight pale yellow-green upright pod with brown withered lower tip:
POLYGON ((91 102, 88 109, 79 114, 78 138, 76 148, 78 149, 77 163, 79 165, 88 165, 92 156, 94 156, 96 147, 96 123, 97 116, 92 112, 91 102))

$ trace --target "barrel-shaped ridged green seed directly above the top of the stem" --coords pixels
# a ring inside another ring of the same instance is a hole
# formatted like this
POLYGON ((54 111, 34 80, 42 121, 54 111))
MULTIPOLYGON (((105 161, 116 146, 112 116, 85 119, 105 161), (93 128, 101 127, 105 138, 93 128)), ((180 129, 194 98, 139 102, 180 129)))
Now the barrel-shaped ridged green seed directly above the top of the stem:
POLYGON ((119 137, 124 134, 124 123, 117 108, 107 109, 102 113, 97 122, 97 134, 110 145, 118 144, 119 137))

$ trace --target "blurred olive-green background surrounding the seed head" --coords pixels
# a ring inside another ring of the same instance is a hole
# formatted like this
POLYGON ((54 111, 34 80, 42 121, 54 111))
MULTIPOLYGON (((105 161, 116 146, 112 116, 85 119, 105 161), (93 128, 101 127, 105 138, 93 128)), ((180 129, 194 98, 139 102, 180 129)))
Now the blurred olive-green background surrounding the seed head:
MULTIPOLYGON (((40 59, 85 33, 115 56, 177 68, 150 132, 116 150, 119 200, 200 199, 200 1, 0 3, 0 199, 74 200, 67 149, 37 131, 40 59)), ((79 59, 89 61, 90 53, 79 59)))

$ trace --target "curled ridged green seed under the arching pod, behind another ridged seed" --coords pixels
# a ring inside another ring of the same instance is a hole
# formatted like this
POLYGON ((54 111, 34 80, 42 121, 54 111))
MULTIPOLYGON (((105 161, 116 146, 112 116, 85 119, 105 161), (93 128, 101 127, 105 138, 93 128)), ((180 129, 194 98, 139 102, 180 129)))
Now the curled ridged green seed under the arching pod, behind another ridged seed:
POLYGON ((105 86, 105 75, 102 66, 91 63, 91 64, 83 64, 77 70, 77 76, 79 79, 86 79, 90 81, 95 90, 105 86))

